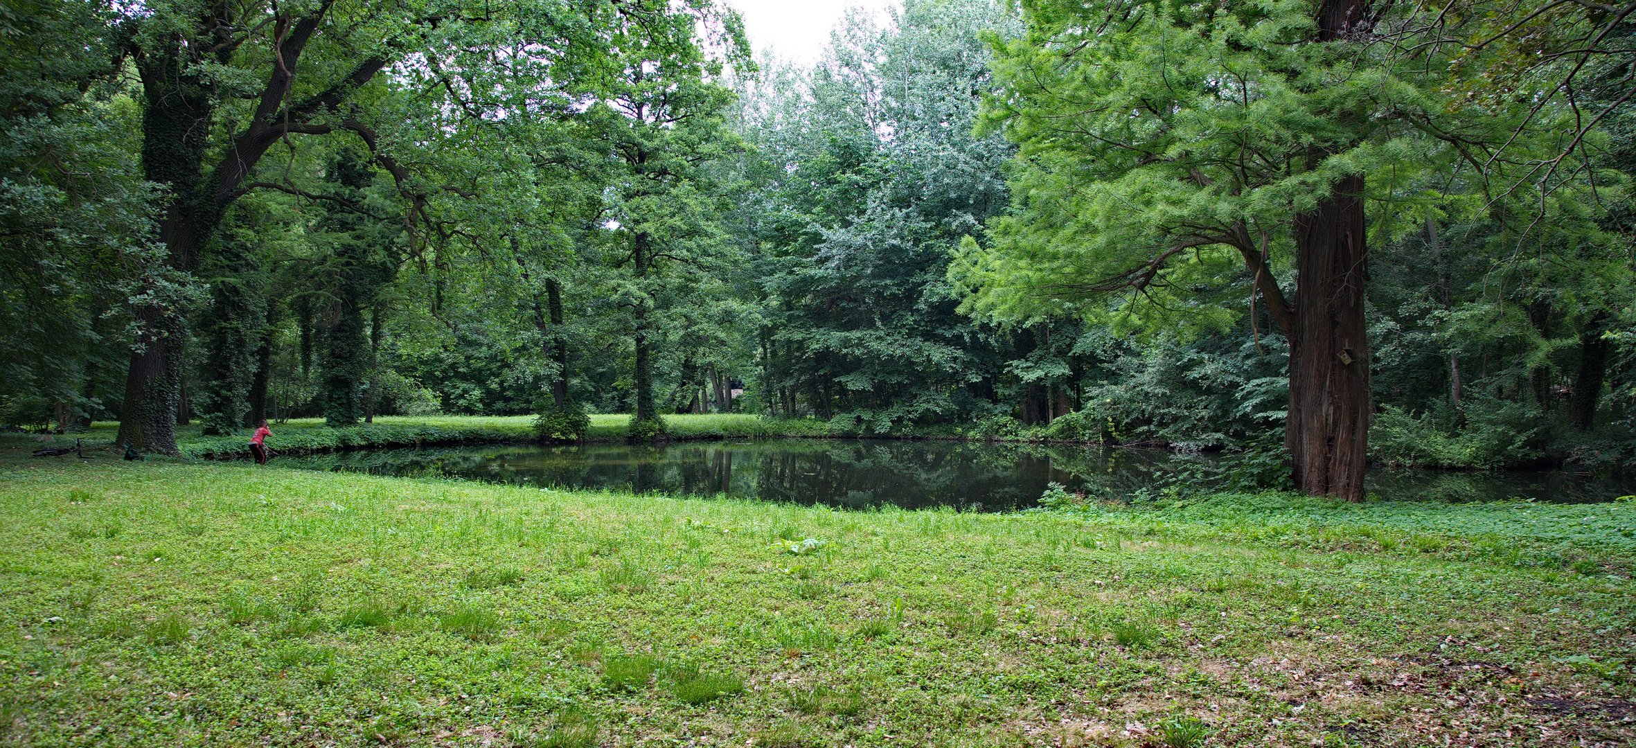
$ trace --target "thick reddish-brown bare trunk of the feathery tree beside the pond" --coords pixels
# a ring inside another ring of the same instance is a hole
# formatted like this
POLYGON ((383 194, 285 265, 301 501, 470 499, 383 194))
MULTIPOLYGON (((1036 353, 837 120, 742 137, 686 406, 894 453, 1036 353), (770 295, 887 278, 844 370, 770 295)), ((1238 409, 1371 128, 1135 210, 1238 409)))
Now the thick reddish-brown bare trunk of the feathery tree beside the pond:
POLYGON ((1369 342, 1363 318, 1363 177, 1296 216, 1296 304, 1284 445, 1296 488, 1363 501, 1369 342))

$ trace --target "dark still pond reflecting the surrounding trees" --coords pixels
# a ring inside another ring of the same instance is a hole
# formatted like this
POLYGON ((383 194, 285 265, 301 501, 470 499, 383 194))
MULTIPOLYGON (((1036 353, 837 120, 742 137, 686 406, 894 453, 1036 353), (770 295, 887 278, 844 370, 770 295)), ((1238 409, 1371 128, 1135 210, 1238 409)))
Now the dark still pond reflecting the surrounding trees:
MULTIPOLYGON (((489 445, 376 450, 278 458, 278 465, 398 476, 455 476, 555 488, 738 496, 836 507, 893 504, 1008 511, 1034 506, 1047 483, 1130 498, 1165 484, 1220 484, 1230 457, 1165 450, 919 440, 764 439, 623 444, 489 445)), ((1448 473, 1374 470, 1369 489, 1392 499, 1610 501, 1636 494, 1636 478, 1567 471, 1448 473)))

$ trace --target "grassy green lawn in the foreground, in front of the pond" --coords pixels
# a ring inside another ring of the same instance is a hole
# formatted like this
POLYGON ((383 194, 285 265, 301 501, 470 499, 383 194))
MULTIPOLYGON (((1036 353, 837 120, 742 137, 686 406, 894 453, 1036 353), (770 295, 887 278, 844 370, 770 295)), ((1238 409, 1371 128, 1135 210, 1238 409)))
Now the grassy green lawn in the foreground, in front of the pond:
POLYGON ((1631 502, 838 512, 13 448, 0 527, 20 745, 1636 741, 1631 502))

